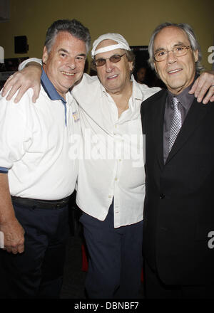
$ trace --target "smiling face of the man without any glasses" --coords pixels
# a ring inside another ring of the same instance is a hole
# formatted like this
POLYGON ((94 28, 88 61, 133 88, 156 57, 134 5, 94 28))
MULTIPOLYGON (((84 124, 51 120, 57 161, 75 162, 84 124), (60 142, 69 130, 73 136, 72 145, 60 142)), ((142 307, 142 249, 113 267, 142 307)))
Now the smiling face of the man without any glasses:
POLYGON ((49 80, 57 92, 65 98, 68 89, 83 75, 86 44, 67 31, 60 31, 56 35, 50 53, 44 47, 42 60, 49 80))

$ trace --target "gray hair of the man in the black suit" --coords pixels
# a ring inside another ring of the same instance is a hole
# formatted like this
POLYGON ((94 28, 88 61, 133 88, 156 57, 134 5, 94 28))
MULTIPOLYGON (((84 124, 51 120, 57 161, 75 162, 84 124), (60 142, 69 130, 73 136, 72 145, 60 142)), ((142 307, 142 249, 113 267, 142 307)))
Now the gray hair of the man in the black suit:
POLYGON ((202 60, 202 54, 200 51, 200 45, 196 39, 195 33, 193 31, 193 28, 191 28, 187 23, 170 23, 165 22, 156 27, 156 29, 153 31, 153 34, 151 36, 151 40, 148 45, 148 53, 149 53, 149 59, 148 63, 151 65, 151 68, 154 69, 154 41, 158 33, 161 31, 161 29, 168 27, 168 26, 175 26, 183 30, 187 36, 188 40, 190 41, 190 45, 192 47, 193 51, 198 50, 198 61, 196 62, 196 72, 200 73, 200 70, 203 70, 203 65, 200 64, 200 60, 202 60))

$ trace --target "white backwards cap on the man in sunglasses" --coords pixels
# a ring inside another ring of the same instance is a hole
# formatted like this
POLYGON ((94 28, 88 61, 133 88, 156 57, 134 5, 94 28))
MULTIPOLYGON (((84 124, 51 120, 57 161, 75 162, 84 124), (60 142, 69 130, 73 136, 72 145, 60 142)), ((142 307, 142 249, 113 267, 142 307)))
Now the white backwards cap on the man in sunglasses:
POLYGON ((94 56, 98 53, 107 52, 107 51, 111 51, 111 50, 118 49, 118 48, 126 49, 129 51, 131 50, 131 48, 128 46, 128 42, 126 41, 126 39, 119 33, 104 33, 104 35, 99 36, 96 39, 96 41, 93 42, 91 55, 94 56), (104 41, 106 39, 111 39, 112 41, 116 41, 117 44, 106 46, 104 48, 100 48, 96 50, 96 47, 98 46, 98 44, 101 43, 101 41, 104 41))

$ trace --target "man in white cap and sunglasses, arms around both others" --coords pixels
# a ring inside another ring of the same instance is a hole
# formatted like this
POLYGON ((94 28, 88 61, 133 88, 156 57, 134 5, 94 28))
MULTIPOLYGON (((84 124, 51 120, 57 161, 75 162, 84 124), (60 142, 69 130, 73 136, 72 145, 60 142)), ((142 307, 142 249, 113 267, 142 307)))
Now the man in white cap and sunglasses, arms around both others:
MULTIPOLYGON (((90 298, 138 298, 141 285, 145 172, 140 107, 160 88, 136 83, 130 50, 119 34, 100 36, 91 51, 98 78, 84 74, 72 90, 83 134, 76 202, 83 211, 90 298)), ((21 75, 32 81, 33 66, 24 71, 16 74, 19 81, 21 75)))

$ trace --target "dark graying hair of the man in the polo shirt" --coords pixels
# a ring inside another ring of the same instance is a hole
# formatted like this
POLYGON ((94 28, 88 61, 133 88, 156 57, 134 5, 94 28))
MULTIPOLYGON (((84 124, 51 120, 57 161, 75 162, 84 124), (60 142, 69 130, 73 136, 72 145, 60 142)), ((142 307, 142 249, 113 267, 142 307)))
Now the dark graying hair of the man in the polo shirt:
POLYGON ((76 19, 68 20, 58 20, 52 23, 46 33, 45 46, 48 53, 51 51, 51 47, 54 43, 56 35, 59 31, 67 31, 71 33, 73 37, 76 37, 86 43, 86 51, 88 53, 91 47, 91 35, 88 31, 88 28, 83 26, 83 24, 76 19))

